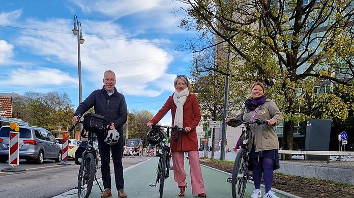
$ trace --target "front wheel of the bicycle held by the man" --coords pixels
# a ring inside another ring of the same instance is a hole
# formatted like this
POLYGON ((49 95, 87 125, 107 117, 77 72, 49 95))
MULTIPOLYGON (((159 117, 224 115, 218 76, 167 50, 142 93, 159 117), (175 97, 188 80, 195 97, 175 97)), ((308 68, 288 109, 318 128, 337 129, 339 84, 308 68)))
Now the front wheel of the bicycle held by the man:
POLYGON ((95 158, 92 153, 87 153, 82 159, 79 171, 79 183, 77 191, 79 198, 87 198, 90 195, 95 178, 95 158))

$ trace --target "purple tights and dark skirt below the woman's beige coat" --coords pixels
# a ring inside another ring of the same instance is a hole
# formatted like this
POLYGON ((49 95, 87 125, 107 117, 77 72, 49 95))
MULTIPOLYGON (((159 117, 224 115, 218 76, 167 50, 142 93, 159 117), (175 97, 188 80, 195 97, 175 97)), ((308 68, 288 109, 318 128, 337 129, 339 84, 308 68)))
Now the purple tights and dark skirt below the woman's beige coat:
POLYGON ((253 183, 254 187, 260 189, 260 180, 262 178, 265 185, 265 192, 268 192, 272 188, 273 183, 273 163, 274 159, 263 158, 251 158, 252 167, 253 167, 253 183))

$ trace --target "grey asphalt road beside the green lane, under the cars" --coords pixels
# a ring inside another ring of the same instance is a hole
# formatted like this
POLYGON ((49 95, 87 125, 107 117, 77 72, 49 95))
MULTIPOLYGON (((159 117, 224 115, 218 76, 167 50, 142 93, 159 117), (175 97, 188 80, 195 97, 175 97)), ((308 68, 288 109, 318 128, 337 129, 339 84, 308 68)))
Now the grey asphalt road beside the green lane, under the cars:
MULTIPOLYGON (((123 157, 123 168, 146 160, 146 157, 123 157)), ((20 161, 19 168, 24 172, 0 172, 0 197, 52 197, 77 186, 79 167, 74 160, 71 165, 57 165, 54 160, 45 160, 43 164, 30 164, 20 161)), ((100 163, 100 162, 99 162, 100 163)), ((0 163, 0 170, 10 167, 7 163, 0 163)), ((111 162, 111 173, 113 163, 111 162)), ((97 172, 101 178, 101 171, 97 172)), ((114 180, 112 180, 114 182, 114 180)))

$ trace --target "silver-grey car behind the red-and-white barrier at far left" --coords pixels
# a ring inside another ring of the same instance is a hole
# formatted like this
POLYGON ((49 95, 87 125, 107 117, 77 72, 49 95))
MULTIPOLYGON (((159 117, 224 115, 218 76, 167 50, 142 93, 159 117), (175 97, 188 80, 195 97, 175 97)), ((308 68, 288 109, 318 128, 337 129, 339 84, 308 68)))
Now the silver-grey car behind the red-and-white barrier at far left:
MULTIPOLYGON (((0 128, 0 162, 2 163, 9 159, 10 131, 9 125, 0 128)), ((20 159, 35 160, 39 164, 42 164, 44 159, 62 161, 62 149, 48 130, 38 126, 20 126, 19 133, 20 159)))

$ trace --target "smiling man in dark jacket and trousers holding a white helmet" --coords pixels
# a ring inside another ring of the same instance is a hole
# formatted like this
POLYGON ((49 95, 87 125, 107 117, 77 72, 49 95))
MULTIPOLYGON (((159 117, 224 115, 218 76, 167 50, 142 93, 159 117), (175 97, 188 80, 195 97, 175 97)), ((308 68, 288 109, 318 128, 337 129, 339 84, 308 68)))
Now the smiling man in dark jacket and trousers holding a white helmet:
POLYGON ((104 142, 106 137, 102 133, 97 133, 98 149, 101 155, 101 173, 103 187, 101 197, 112 195, 111 176, 110 176, 110 152, 112 152, 115 186, 119 197, 127 197, 124 192, 123 179, 123 124, 127 121, 127 104, 123 94, 115 88, 115 74, 113 71, 106 71, 103 76, 103 87, 93 91, 76 109, 73 122, 77 122, 77 116, 83 115, 90 108, 95 108, 95 114, 105 116, 109 123, 112 123, 110 129, 116 129, 120 133, 120 139, 114 145, 108 145, 104 142))

